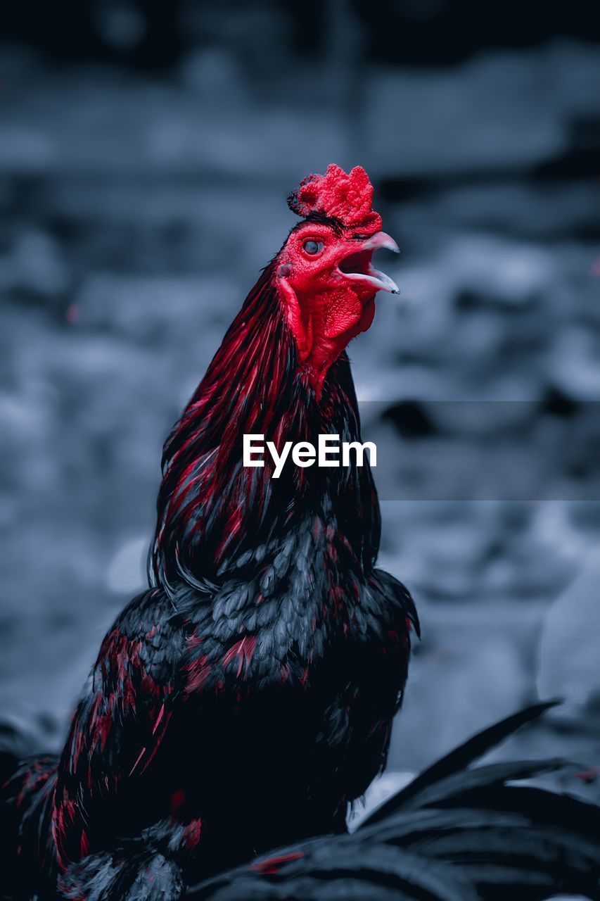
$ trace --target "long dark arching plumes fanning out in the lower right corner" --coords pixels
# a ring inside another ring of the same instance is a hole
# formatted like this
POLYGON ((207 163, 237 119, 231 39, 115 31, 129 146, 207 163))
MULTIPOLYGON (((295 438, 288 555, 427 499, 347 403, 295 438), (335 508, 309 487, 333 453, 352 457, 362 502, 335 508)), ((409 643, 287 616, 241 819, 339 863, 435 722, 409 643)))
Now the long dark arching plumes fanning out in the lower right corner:
POLYGON ((600 897, 600 810, 520 785, 565 760, 470 764, 539 716, 479 733, 390 798, 356 833, 272 851, 195 886, 190 901, 542 901, 600 897))

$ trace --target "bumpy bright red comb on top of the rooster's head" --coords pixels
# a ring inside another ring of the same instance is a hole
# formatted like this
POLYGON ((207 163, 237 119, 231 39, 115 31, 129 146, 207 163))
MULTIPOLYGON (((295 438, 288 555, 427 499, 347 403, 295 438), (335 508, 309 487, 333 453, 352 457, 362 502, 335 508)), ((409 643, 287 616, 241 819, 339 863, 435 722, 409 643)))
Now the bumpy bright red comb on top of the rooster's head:
POLYGON ((335 216, 347 228, 379 231, 381 216, 371 209, 373 186, 364 168, 355 166, 347 175, 339 166, 327 167, 324 175, 309 175, 287 198, 293 213, 335 216))

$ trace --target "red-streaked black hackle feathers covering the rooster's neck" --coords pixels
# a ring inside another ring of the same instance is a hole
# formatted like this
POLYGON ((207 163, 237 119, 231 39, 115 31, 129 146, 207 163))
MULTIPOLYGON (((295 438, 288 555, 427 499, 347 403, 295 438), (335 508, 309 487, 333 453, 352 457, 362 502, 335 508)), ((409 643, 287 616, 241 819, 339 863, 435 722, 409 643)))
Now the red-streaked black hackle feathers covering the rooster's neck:
POLYGON ((357 553, 374 560, 378 508, 368 467, 348 473, 289 464, 274 480, 268 457, 264 468, 241 465, 244 433, 264 434, 280 450, 285 441, 316 444, 320 432, 340 433, 345 441, 359 437, 350 364, 344 353, 332 365, 317 402, 298 368, 271 264, 165 444, 150 581, 168 587, 182 578, 219 578, 249 548, 277 542, 315 508, 343 500, 341 495, 352 507, 350 518, 356 520, 357 504, 365 508, 367 534, 363 529, 357 537, 357 553))

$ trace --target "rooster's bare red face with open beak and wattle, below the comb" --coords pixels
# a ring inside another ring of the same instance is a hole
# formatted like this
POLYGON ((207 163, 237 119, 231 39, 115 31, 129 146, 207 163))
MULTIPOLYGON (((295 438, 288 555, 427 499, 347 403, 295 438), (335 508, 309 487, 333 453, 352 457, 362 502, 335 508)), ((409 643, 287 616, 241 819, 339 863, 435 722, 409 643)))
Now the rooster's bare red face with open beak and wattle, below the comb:
POLYGON ((391 279, 371 268, 376 246, 397 250, 391 238, 373 226, 336 231, 326 223, 302 223, 277 258, 279 297, 317 395, 332 362, 373 322, 377 290, 397 291, 391 279), (307 241, 318 242, 317 253, 306 250, 307 241))

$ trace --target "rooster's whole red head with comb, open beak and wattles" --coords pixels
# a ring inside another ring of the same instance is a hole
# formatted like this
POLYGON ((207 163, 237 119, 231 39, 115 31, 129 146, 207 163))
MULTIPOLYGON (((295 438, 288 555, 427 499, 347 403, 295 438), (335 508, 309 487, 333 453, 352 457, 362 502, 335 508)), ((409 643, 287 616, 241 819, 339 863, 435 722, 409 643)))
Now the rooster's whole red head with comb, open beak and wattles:
POLYGON ((373 268, 379 249, 398 251, 371 209, 373 186, 363 168, 349 174, 329 166, 288 197, 303 217, 276 260, 276 283, 298 359, 314 387, 359 332, 373 322, 377 291, 398 293, 391 278, 373 268))

